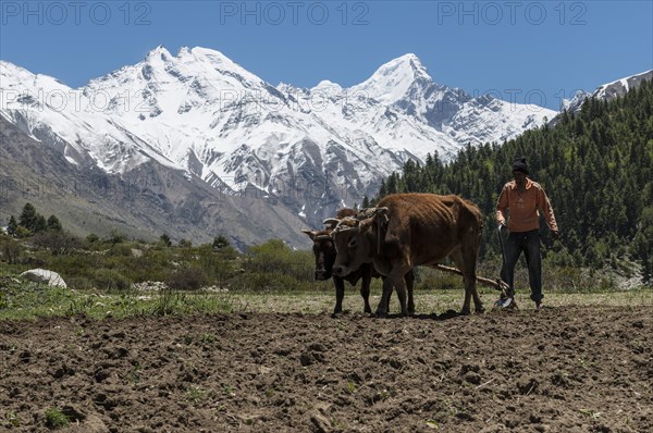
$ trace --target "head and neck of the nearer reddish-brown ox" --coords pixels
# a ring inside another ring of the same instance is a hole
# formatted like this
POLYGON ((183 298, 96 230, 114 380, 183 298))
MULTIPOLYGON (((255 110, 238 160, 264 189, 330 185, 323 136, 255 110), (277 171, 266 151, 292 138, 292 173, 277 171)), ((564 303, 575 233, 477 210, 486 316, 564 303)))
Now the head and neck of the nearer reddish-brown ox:
POLYGON ((364 263, 374 260, 381 245, 381 226, 387 221, 386 214, 387 208, 372 208, 355 218, 337 221, 337 225, 331 232, 337 250, 333 265, 334 275, 346 276, 364 263))

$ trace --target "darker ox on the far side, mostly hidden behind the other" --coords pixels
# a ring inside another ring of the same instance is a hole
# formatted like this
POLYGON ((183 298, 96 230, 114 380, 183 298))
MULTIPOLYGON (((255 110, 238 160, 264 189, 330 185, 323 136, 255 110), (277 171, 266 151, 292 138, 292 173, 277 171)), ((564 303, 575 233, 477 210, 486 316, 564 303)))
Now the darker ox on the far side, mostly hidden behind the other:
MULTIPOLYGON (((341 209, 337 212, 336 218, 343 219, 347 216, 355 216, 358 212, 354 209, 341 209)), ((329 220, 326 220, 329 221, 329 220)), ((312 250, 316 256, 316 280, 324 281, 333 279, 333 285, 335 286, 335 307, 333 309, 333 316, 340 314, 343 311, 343 299, 345 297, 345 281, 349 282, 353 286, 361 280, 360 283, 360 296, 365 302, 364 311, 367 313, 372 312, 370 307, 370 282, 372 277, 378 279, 381 276, 372 267, 371 263, 362 263, 358 269, 353 270, 346 276, 333 275, 333 264, 335 263, 335 246, 331 237, 331 232, 335 224, 330 227, 319 231, 303 230, 313 243, 312 250)), ((410 270, 404 277, 406 286, 408 288, 408 311, 412 313, 415 311, 415 302, 412 300, 412 286, 415 283, 415 274, 410 270)), ((386 305, 390 301, 390 297, 386 300, 386 305)))

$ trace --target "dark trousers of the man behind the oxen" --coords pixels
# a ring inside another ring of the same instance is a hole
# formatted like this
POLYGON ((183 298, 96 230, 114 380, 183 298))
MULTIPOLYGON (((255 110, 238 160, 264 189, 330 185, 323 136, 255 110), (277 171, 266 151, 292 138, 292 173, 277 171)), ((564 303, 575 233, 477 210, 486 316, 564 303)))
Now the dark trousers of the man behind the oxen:
POLYGON ((514 293, 515 265, 523 251, 528 265, 528 282, 531 287, 531 299, 539 302, 542 294, 542 257, 540 256, 540 231, 510 233, 505 242, 506 262, 501 270, 501 279, 514 293))

